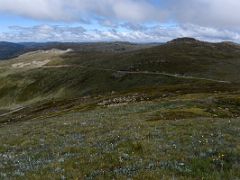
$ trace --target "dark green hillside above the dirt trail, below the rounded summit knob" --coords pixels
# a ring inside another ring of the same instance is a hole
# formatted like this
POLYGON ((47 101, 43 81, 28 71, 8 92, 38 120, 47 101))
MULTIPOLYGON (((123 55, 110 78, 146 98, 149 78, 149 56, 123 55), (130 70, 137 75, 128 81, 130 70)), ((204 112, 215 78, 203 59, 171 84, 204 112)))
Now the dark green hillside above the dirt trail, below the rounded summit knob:
POLYGON ((239 82, 240 46, 228 43, 169 42, 118 54, 66 55, 64 63, 121 70, 168 72, 239 82))

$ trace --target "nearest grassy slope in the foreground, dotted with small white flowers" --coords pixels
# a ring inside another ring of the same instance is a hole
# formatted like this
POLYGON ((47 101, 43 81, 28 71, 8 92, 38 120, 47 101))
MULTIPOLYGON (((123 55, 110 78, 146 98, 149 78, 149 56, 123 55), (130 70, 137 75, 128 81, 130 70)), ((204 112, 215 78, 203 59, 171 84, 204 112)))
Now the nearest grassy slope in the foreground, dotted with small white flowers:
POLYGON ((0 178, 237 179, 237 97, 124 95, 5 124, 0 178))

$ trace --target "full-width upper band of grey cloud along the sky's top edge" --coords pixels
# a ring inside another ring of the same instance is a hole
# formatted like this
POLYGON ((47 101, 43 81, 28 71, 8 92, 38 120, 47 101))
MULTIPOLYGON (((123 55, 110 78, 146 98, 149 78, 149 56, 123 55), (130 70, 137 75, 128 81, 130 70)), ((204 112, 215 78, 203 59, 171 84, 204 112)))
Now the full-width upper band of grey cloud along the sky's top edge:
MULTIPOLYGON (((115 21, 168 22, 238 29, 239 0, 0 0, 0 12, 51 21, 102 18, 105 26, 115 21)), ((114 22, 114 23, 113 23, 114 22)))

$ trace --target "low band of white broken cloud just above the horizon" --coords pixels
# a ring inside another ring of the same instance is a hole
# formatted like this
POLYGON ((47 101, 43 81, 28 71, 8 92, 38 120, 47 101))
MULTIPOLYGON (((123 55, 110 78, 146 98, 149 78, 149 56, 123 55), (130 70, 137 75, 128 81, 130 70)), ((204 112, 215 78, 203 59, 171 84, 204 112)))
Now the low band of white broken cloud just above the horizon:
POLYGON ((10 27, 10 32, 0 33, 4 41, 131 41, 131 42, 165 42, 178 37, 196 37, 205 41, 236 41, 240 43, 240 33, 230 30, 184 24, 175 27, 141 26, 132 28, 123 26, 105 30, 86 30, 81 26, 10 27))

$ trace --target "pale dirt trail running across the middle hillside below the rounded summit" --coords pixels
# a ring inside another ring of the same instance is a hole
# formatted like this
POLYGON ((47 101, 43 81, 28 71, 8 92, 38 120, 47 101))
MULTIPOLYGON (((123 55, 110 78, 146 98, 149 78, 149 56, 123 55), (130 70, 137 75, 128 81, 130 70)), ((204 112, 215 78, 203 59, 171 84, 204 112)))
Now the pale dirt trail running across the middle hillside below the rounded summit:
MULTIPOLYGON (((65 68, 65 67, 89 68, 89 67, 81 66, 81 65, 42 66, 41 68, 65 68)), ((106 68, 92 68, 92 69, 101 70, 101 71, 111 71, 111 72, 117 72, 117 73, 124 73, 124 74, 160 75, 160 76, 168 76, 168 77, 181 78, 181 79, 205 80, 205 81, 225 83, 225 84, 230 84, 231 83, 230 81, 223 81, 223 80, 203 78, 203 77, 195 77, 195 76, 185 76, 185 75, 171 74, 171 73, 150 72, 150 71, 120 71, 120 70, 106 69, 106 68)))

